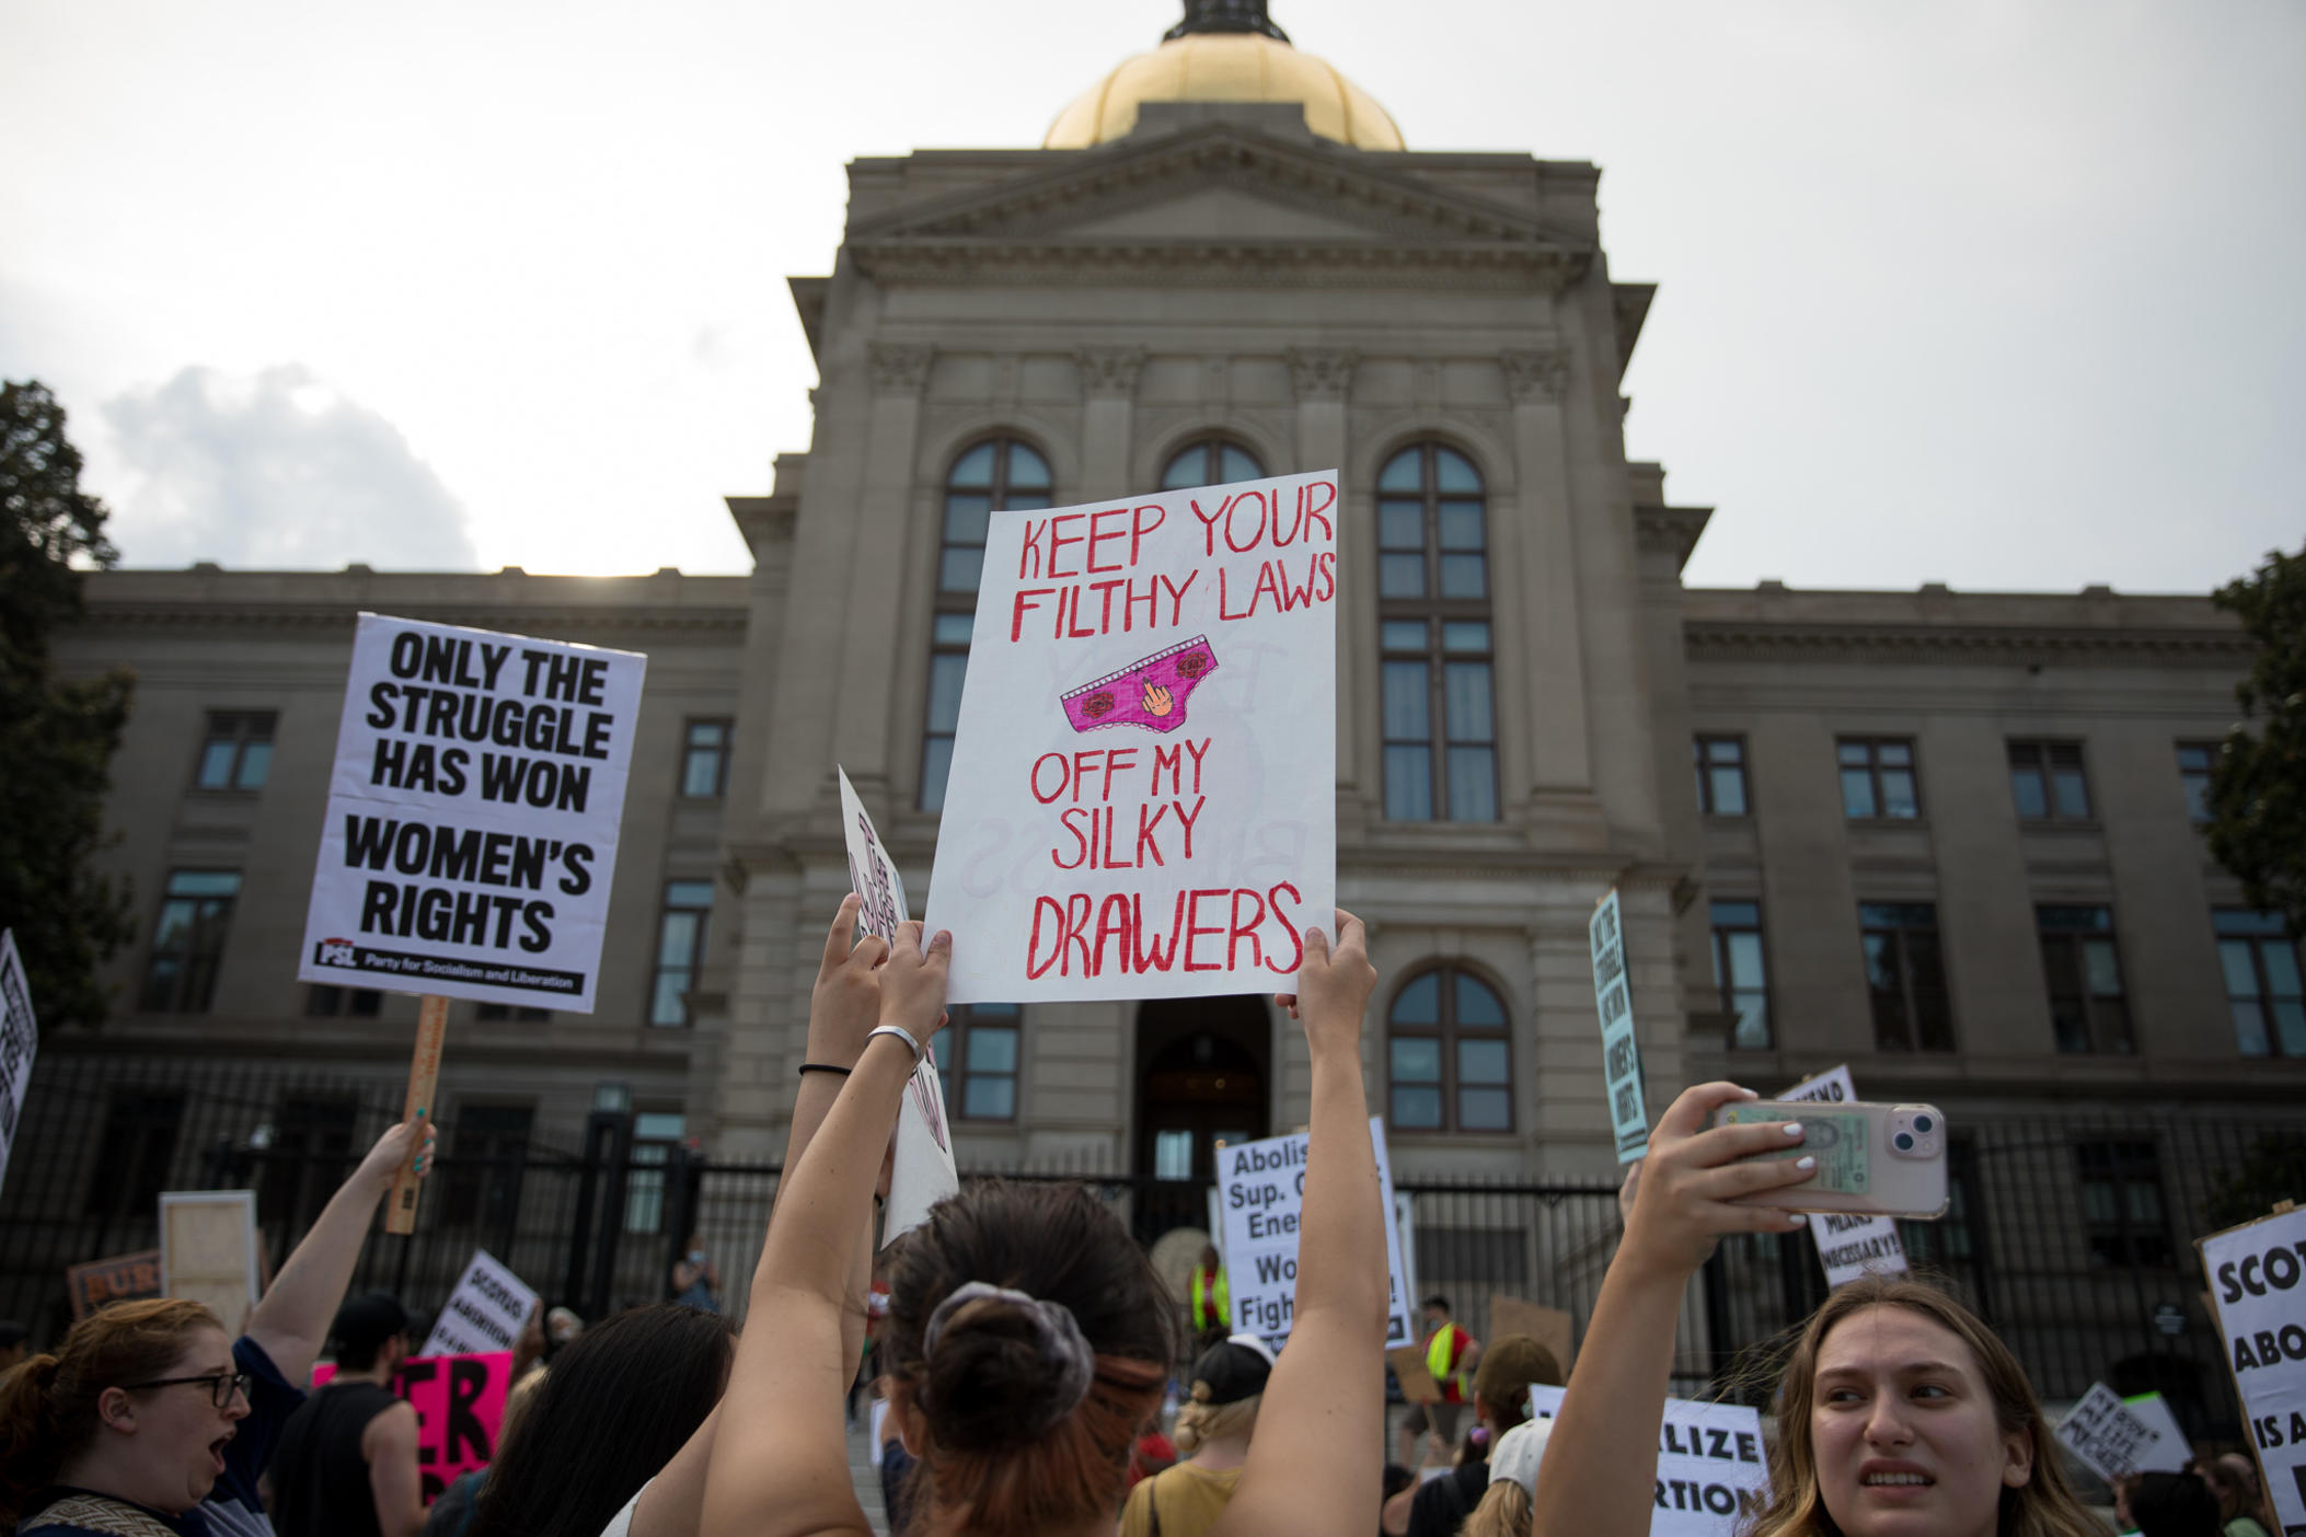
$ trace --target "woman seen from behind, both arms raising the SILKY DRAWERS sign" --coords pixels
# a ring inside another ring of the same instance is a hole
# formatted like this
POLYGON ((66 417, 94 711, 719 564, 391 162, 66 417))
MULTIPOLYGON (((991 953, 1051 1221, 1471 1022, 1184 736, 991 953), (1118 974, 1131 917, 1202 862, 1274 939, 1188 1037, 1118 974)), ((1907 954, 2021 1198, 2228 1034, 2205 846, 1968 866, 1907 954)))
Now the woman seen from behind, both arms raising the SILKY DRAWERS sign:
MULTIPOLYGON (((1384 1433, 1386 1226, 1361 1088, 1361 1016, 1377 975, 1361 924, 1335 954, 1305 936, 1284 1002, 1312 1046, 1291 1348, 1215 1537, 1363 1530, 1384 1433), (1374 1260, 1372 1260, 1374 1256, 1374 1260)), ((754 1318, 706 1475, 703 1537, 865 1537, 839 1399, 851 1357, 846 1256, 920 1046, 943 1016, 952 938, 904 924, 879 972, 881 1028, 786 1178, 754 1318)), ((888 1320, 890 1403, 920 1456, 915 1530, 936 1537, 1109 1535, 1128 1456, 1160 1408, 1171 1327, 1158 1279, 1084 1189, 978 1184, 904 1240, 888 1320)))

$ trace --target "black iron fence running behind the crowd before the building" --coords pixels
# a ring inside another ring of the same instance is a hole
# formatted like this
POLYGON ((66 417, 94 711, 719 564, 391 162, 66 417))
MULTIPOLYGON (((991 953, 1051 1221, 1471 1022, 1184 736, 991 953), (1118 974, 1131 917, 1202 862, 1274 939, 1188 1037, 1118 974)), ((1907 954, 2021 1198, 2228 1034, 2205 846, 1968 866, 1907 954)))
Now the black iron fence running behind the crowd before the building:
MULTIPOLYGON (((399 1115, 399 1092, 385 1069, 360 1078, 44 1051, 0 1189, 0 1316, 55 1339, 69 1323, 65 1270, 155 1247, 164 1189, 256 1189, 265 1256, 279 1265, 399 1115)), ((387 1286, 422 1313, 445 1302, 473 1249, 489 1249, 551 1302, 597 1318, 669 1295, 673 1260, 701 1235, 724 1300, 743 1307, 777 1191, 773 1164, 636 1143, 623 1113, 510 1141, 454 1122, 440 1131, 417 1233, 374 1235, 355 1286, 387 1286)), ((1206 1187, 1195 1182, 1093 1164, 973 1173, 1082 1180, 1155 1256, 1165 1233, 1206 1221, 1206 1187)), ((1404 1178, 1400 1191, 1416 1288, 1450 1295, 1476 1337, 1492 1295, 1561 1309, 1584 1327, 1617 1247, 1614 1187, 1404 1178)), ((1900 1226, 1916 1267, 2018 1350, 2045 1399, 2075 1399, 2094 1380, 2163 1392, 2191 1433, 2235 1440, 2193 1240, 2301 1194, 2306 1120, 2062 1113, 1958 1129, 1946 1219, 1900 1226)), ((1171 1244, 1197 1249, 1199 1237, 1171 1244)), ((1748 1366, 1819 1300, 1808 1235, 1727 1240, 1690 1288, 1676 1390, 1766 1380, 1748 1366)))

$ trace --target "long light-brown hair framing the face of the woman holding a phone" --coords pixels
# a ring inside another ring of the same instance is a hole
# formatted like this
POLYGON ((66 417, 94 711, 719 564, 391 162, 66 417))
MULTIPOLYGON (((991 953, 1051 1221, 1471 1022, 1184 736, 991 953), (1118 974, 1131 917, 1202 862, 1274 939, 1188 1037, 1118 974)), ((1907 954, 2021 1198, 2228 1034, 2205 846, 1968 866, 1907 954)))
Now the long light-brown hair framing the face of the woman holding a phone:
POLYGON ((1995 1521, 1997 1537, 2105 1537, 2105 1528, 2075 1498, 2059 1463, 2057 1445, 2043 1433, 2041 1401, 2025 1366, 2011 1348, 1967 1307, 1921 1281, 1866 1277, 1842 1286, 1810 1313, 1785 1357, 1778 1383, 1778 1440, 1769 1449, 1771 1498, 1743 1528, 1746 1537, 1838 1537, 1840 1528, 1826 1512, 1817 1484, 1817 1447, 1810 1438, 1810 1410, 1817 1392, 1817 1350, 1826 1334, 1847 1318, 1875 1307, 1902 1307, 1944 1327, 1979 1362, 1979 1376, 1995 1406, 1995 1424, 2004 1436, 2022 1433, 2034 1449, 2032 1477, 2018 1489, 2002 1489, 1995 1521))

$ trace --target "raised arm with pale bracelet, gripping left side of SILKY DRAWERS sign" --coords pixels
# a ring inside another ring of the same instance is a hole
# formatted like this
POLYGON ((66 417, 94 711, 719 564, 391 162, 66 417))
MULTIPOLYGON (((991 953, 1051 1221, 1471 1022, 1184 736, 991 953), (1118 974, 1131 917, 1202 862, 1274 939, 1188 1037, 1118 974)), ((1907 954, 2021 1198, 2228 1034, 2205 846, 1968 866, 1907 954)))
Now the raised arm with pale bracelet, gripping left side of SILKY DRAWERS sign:
MULTIPOLYGON (((945 1009, 952 936, 920 947, 902 924, 881 968, 881 1023, 927 1044, 945 1009)), ((752 1277, 754 1320, 736 1346, 722 1426, 706 1470, 701 1537, 867 1537, 872 1525, 849 1479, 842 1390, 856 1371, 844 1348, 846 1281, 856 1224, 869 1214, 881 1154, 913 1074, 904 1042, 874 1035, 842 1083, 832 1113, 768 1224, 752 1277)))

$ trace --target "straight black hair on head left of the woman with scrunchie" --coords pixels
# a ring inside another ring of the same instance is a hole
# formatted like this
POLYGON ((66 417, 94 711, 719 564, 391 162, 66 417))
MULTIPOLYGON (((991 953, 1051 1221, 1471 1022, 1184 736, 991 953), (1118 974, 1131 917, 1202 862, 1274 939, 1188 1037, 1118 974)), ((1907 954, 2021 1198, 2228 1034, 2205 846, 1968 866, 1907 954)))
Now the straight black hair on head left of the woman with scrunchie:
POLYGON ((719 1403, 733 1355, 726 1318, 678 1302, 572 1339, 496 1447, 473 1537, 600 1537, 719 1403))

